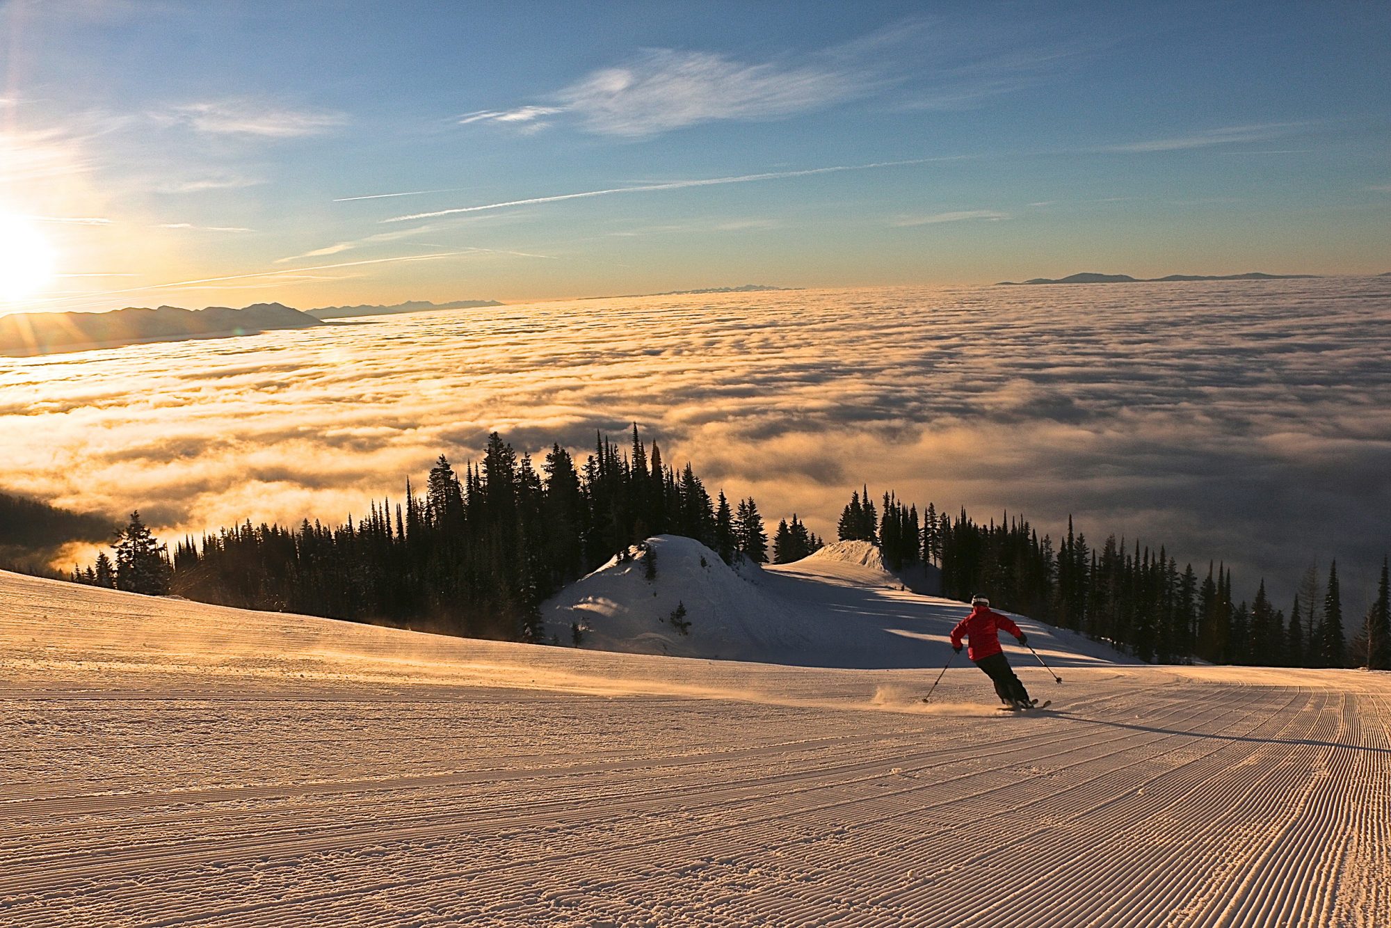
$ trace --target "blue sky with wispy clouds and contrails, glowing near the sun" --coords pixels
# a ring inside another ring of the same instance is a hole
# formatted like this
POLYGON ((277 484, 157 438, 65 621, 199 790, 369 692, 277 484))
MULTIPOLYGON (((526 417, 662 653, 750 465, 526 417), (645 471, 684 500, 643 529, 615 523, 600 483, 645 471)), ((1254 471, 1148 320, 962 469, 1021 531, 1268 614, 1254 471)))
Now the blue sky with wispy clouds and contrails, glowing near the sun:
POLYGON ((11 0, 0 28, 0 225, 53 264, 0 312, 1391 270, 1385 4, 11 0))

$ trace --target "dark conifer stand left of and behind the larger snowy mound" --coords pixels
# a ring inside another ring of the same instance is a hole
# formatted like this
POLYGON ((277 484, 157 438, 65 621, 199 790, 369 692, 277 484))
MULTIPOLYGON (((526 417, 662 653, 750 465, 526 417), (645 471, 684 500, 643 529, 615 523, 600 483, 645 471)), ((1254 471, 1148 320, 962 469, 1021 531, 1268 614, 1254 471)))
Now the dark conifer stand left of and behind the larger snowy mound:
MULTIPOLYGON (((330 527, 252 525, 185 538, 168 555, 134 513, 104 555, 74 579, 250 609, 410 625, 536 641, 541 602, 652 534, 682 534, 725 561, 768 561, 753 498, 712 501, 687 463, 662 462, 633 427, 627 449, 597 437, 576 465, 558 444, 540 470, 497 433, 462 474, 441 455, 426 493, 371 504, 330 527)), ((810 543, 810 538, 808 538, 810 543)))

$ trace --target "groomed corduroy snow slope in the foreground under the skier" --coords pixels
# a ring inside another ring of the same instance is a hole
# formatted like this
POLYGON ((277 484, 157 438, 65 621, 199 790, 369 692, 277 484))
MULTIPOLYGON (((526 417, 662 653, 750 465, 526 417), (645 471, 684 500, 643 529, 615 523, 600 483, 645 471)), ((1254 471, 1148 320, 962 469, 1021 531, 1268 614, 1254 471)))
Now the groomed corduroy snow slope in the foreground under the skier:
POLYGON ((0 573, 0 924, 1391 924, 1391 685, 490 644, 0 573))

